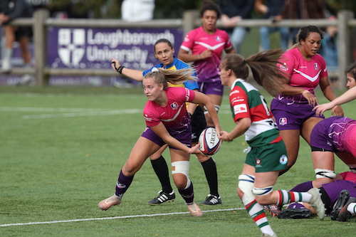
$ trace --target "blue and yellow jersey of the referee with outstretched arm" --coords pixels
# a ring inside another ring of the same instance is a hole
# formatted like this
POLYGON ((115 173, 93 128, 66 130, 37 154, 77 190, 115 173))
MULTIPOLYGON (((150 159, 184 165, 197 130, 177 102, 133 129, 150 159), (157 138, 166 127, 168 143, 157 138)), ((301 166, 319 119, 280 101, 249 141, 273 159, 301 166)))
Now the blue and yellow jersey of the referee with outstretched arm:
MULTIPOLYGON (((178 58, 174 57, 173 62, 168 64, 167 66, 164 67, 163 63, 159 63, 153 66, 152 68, 163 68, 165 70, 179 70, 179 69, 189 68, 189 65, 187 63, 184 63, 182 60, 179 60, 178 58)), ((150 73, 152 68, 150 68, 150 70, 145 70, 144 72, 142 72, 142 75, 146 75, 147 73, 150 73)), ((193 75, 196 76, 195 73, 193 75)), ((195 89, 199 90, 199 85, 195 80, 188 80, 178 85, 173 85, 172 83, 169 83, 169 86, 176 87, 176 88, 188 88, 189 90, 195 90, 195 89)))

